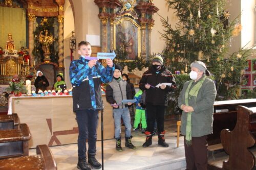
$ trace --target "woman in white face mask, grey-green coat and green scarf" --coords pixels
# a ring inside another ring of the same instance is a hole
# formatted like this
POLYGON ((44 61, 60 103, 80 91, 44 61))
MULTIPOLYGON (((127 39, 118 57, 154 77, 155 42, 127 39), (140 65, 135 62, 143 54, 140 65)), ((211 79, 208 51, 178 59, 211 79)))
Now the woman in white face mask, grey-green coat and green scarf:
POLYGON ((207 169, 207 135, 212 133, 216 87, 207 78, 210 72, 201 61, 190 64, 190 81, 184 83, 178 99, 182 110, 181 134, 184 135, 186 169, 207 169))

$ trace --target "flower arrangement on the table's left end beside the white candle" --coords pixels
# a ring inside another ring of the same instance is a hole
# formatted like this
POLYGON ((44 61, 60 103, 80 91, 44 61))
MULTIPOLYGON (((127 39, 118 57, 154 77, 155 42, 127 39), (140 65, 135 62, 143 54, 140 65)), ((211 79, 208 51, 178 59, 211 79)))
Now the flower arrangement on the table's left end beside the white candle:
POLYGON ((9 87, 6 88, 6 91, 11 92, 15 96, 20 96, 22 93, 27 93, 26 86, 24 86, 24 81, 9 83, 9 87))

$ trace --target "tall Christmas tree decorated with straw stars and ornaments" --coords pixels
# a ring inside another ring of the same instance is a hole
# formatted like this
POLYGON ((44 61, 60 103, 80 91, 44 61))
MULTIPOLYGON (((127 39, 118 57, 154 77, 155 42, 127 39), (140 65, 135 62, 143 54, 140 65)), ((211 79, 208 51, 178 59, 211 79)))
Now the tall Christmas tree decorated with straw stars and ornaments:
POLYGON ((247 65, 250 49, 238 49, 227 55, 229 42, 238 36, 242 26, 239 16, 228 21, 224 0, 166 0, 174 9, 179 22, 175 27, 168 18, 161 17, 162 37, 166 42, 163 51, 169 69, 188 72, 195 60, 206 63, 216 82, 217 100, 237 99, 240 77, 247 65))

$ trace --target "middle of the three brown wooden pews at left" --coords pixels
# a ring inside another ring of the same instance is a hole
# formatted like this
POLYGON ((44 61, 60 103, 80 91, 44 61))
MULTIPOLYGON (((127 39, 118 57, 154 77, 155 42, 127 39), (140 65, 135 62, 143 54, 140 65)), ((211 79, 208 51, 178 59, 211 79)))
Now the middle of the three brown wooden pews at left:
POLYGON ((18 129, 0 131, 0 159, 29 155, 30 131, 27 124, 19 124, 18 129))

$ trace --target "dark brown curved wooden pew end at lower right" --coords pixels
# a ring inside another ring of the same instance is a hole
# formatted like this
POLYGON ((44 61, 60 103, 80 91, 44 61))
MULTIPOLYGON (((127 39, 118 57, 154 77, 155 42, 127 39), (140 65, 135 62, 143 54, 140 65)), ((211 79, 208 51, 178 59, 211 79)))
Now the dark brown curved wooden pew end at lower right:
POLYGON ((255 157, 248 150, 255 144, 256 107, 237 106, 237 123, 233 131, 223 129, 221 142, 229 159, 223 162, 222 168, 209 164, 208 169, 249 170, 255 165, 255 157), (255 134, 255 133, 254 133, 255 134))

